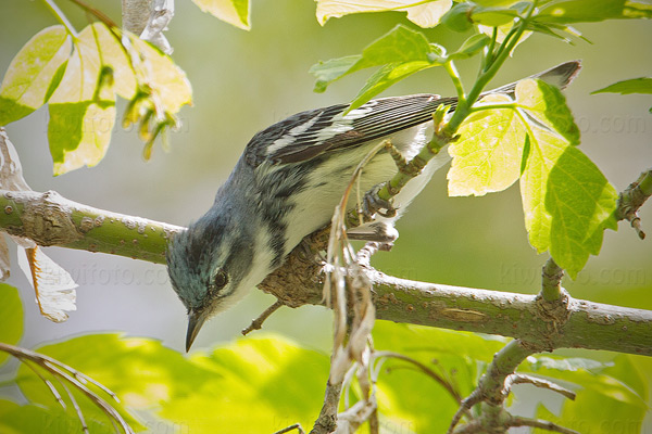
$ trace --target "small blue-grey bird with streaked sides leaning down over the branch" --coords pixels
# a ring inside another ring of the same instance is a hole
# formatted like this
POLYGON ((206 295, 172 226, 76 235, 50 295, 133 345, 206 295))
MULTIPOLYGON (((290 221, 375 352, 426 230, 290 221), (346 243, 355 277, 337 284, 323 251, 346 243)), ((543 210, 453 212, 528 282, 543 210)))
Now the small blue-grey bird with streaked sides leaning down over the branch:
MULTIPOLYGON (((579 61, 566 62, 530 77, 563 89, 580 67, 579 61)), ((517 82, 482 95, 513 95, 517 82)), ((456 98, 419 93, 375 99, 350 111, 349 104, 336 104, 298 113, 255 133, 211 208, 176 233, 166 250, 172 286, 188 312, 186 350, 209 318, 240 301, 305 235, 329 224, 369 150, 389 139, 410 161, 432 137, 432 113, 440 104, 455 103, 456 98)), ((376 215, 352 233, 394 239, 393 221, 449 161, 444 148, 393 197, 396 215, 376 215)), ((397 170, 389 152, 377 153, 364 166, 361 191, 397 170)), ((349 206, 356 206, 355 201, 349 206)))

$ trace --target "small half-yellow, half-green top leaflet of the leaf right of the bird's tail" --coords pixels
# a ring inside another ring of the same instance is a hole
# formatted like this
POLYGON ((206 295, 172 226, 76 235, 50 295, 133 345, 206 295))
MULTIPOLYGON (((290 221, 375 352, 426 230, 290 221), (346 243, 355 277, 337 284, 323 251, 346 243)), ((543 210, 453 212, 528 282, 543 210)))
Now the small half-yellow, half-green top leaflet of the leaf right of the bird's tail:
POLYGON ((579 128, 559 88, 539 79, 522 80, 516 85, 516 99, 528 115, 562 135, 568 143, 579 144, 579 128))

